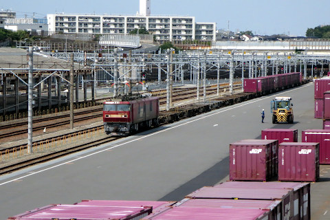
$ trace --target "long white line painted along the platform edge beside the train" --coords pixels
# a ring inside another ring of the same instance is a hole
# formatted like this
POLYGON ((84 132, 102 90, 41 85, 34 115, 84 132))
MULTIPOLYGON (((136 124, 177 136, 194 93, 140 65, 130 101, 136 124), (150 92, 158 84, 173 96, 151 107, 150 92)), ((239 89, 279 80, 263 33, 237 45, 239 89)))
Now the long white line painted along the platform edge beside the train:
MULTIPOLYGON (((307 84, 307 85, 305 85, 305 86, 303 86, 303 87, 307 87, 308 85, 309 85, 309 84, 307 84)), ((298 87, 298 88, 296 88, 296 89, 301 89, 301 88, 303 88, 303 87, 298 87)), ((290 90, 290 92, 291 92, 291 91, 294 91, 294 90, 296 90, 296 89, 292 89, 292 90, 290 90)), ((285 94, 286 92, 289 92, 289 91, 284 91, 284 92, 281 93, 281 94, 285 94)), ((130 140, 130 141, 128 141, 128 142, 124 142, 124 143, 122 143, 122 144, 118 144, 118 145, 115 145, 115 146, 111 146, 110 148, 106 148, 106 149, 103 149, 103 150, 101 150, 101 151, 97 151, 97 152, 91 153, 91 154, 89 154, 89 155, 85 155, 85 156, 83 156, 83 157, 79 157, 79 158, 76 158, 76 159, 72 159, 72 160, 69 160, 69 161, 64 162, 64 163, 62 163, 62 164, 57 164, 57 165, 55 165, 55 166, 51 166, 51 167, 49 167, 49 168, 45 168, 45 169, 43 169, 43 170, 36 171, 36 172, 34 172, 34 173, 30 173, 30 174, 28 174, 28 175, 25 175, 25 176, 22 176, 22 177, 19 177, 19 178, 16 178, 16 179, 12 179, 12 180, 9 180, 9 181, 5 181, 5 182, 1 183, 0 186, 5 185, 5 184, 9 184, 9 183, 11 183, 11 182, 13 182, 13 181, 17 181, 17 180, 19 180, 19 179, 23 179, 23 178, 25 178, 25 177, 30 177, 30 176, 35 175, 35 174, 37 174, 37 173, 42 173, 42 172, 45 172, 45 171, 47 171, 47 170, 51 170, 52 168, 57 168, 58 166, 63 166, 63 165, 65 165, 65 164, 75 162, 75 161, 77 161, 78 159, 84 159, 84 158, 86 158, 86 157, 90 157, 90 156, 92 156, 92 155, 96 155, 96 154, 98 154, 98 153, 102 153, 102 152, 104 152, 104 151, 109 151, 109 150, 114 149, 114 148, 117 148, 117 147, 119 147, 119 146, 123 146, 124 144, 129 144, 129 143, 131 143, 131 142, 135 142, 135 141, 137 141, 137 140, 142 140, 143 138, 150 137, 150 136, 152 136, 152 135, 157 135, 157 134, 159 134, 159 133, 162 133, 162 132, 168 131, 168 130, 170 130, 170 129, 176 129, 176 128, 179 127, 179 126, 184 126, 184 125, 186 125, 186 124, 190 124, 190 123, 192 123, 192 122, 197 122, 198 120, 202 120, 202 119, 204 119, 204 118, 209 118, 210 116, 217 115, 217 114, 219 114, 219 113, 223 113, 223 112, 225 112, 225 111, 230 111, 230 110, 232 110, 232 109, 237 109, 237 108, 239 108, 239 107, 243 107, 243 106, 245 106, 245 105, 252 104, 252 103, 254 103, 254 102, 259 102, 259 101, 261 101, 261 100, 265 100, 265 99, 268 99, 268 98, 270 98, 270 97, 275 97, 275 96, 278 96, 278 95, 279 95, 279 94, 276 94, 276 95, 274 95, 274 96, 267 96, 267 97, 265 97, 265 98, 259 98, 259 99, 257 99, 257 100, 253 100, 253 101, 251 101, 251 102, 246 102, 246 103, 244 103, 244 104, 239 104, 239 105, 237 105, 237 106, 235 106, 235 107, 231 107, 231 108, 228 108, 228 109, 225 109, 225 110, 222 110, 222 111, 217 111, 217 112, 215 112, 215 113, 211 113, 210 115, 204 115, 204 116, 201 117, 201 118, 197 118, 197 119, 195 119, 195 120, 191 120, 191 121, 189 121, 189 122, 185 122, 185 123, 183 123, 183 124, 178 124, 178 125, 175 125, 175 126, 169 127, 168 129, 164 129, 164 130, 162 130, 162 131, 157 131, 157 132, 155 132, 155 133, 151 133, 151 134, 148 134, 148 135, 145 135, 145 136, 142 136, 142 137, 138 137, 137 139, 130 140)))

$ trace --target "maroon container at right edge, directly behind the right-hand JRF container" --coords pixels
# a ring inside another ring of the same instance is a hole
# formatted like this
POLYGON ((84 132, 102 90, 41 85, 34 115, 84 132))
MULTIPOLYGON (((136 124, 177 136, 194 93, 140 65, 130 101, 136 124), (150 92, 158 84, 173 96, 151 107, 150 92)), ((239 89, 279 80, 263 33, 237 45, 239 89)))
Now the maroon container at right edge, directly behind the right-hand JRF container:
POLYGON ((320 164, 330 164, 330 131, 325 129, 308 129, 302 132, 303 142, 318 142, 320 164))

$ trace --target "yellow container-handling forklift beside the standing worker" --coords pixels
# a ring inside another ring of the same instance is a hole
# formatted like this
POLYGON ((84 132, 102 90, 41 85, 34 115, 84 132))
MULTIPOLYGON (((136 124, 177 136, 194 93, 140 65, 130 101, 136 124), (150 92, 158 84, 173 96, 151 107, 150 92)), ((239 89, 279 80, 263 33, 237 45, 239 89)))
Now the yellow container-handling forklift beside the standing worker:
POLYGON ((275 97, 271 102, 271 113, 273 124, 278 122, 294 123, 294 109, 291 97, 275 97))

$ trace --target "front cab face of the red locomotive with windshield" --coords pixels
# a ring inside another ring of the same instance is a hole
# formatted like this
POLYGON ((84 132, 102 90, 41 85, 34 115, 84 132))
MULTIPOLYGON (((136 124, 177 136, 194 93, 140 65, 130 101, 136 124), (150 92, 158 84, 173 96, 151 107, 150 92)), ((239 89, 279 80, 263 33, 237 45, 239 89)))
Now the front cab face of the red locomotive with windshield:
POLYGON ((129 102, 103 103, 104 131, 122 135, 129 133, 131 126, 131 104, 129 102))

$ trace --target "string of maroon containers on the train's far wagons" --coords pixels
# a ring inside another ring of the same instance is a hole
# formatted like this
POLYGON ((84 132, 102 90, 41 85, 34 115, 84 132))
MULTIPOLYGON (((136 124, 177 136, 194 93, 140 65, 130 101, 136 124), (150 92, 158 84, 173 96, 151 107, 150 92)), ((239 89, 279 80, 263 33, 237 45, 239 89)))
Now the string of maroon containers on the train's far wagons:
POLYGON ((257 78, 245 78, 243 82, 244 92, 259 94, 272 93, 303 83, 303 74, 300 72, 262 76, 257 78))

